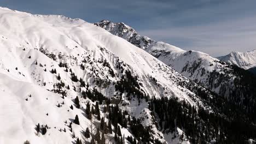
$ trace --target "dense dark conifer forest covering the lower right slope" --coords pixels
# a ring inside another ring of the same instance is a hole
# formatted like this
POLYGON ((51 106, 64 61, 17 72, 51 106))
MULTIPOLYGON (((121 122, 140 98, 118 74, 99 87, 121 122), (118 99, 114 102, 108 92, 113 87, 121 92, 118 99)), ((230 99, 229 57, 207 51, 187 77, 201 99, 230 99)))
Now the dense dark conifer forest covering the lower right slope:
POLYGON ((183 129, 192 143, 246 143, 249 137, 256 137, 256 127, 239 119, 226 119, 202 107, 195 107, 177 99, 152 99, 149 109, 158 117, 160 129, 166 133, 183 129))

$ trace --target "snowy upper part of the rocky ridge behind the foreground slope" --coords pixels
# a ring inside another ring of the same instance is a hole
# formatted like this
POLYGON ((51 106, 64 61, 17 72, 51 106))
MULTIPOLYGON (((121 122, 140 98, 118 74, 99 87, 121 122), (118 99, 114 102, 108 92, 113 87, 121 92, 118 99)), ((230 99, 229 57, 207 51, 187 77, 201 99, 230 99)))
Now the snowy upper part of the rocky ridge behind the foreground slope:
MULTIPOLYGON (((213 58, 210 55, 199 51, 185 51, 179 47, 152 40, 146 36, 139 35, 135 29, 124 23, 115 23, 107 20, 94 23, 114 35, 126 39, 131 44, 136 45, 158 58, 161 62, 177 70, 190 80, 202 83, 203 86, 211 89, 216 93, 220 92, 220 85, 212 87, 216 83, 209 82, 210 73, 213 71, 230 70, 226 68, 223 62, 213 58)), ((229 83, 229 82, 228 82, 229 83)), ((225 93, 225 92, 224 92, 225 93)))

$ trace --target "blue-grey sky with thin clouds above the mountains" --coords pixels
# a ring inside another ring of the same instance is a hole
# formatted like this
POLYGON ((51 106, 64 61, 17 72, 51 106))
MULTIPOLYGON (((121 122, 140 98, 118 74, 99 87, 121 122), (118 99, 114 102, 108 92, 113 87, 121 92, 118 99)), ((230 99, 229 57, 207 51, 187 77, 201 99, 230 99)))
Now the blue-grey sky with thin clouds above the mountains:
POLYGON ((256 49, 254 0, 1 0, 32 14, 124 22, 141 35, 212 56, 256 49))

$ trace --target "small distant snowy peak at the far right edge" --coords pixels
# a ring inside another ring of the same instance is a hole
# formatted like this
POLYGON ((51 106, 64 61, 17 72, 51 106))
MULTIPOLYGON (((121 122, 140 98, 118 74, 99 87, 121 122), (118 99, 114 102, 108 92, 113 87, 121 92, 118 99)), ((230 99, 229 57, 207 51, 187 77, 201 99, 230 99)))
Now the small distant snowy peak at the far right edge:
POLYGON ((256 67, 256 50, 248 52, 231 52, 229 55, 217 58, 220 61, 235 64, 243 69, 256 67))

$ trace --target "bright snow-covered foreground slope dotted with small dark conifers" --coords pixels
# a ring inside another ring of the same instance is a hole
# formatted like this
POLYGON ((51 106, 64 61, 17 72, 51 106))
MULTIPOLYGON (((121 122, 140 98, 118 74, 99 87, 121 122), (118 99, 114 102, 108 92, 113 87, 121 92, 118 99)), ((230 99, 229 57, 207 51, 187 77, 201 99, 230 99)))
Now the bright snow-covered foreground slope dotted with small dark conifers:
MULTIPOLYGON (((82 98, 81 92, 88 89, 98 89, 108 98, 121 94, 122 103, 129 103, 124 107, 120 103, 121 109, 128 110, 129 115, 136 118, 146 117, 140 114, 143 110, 148 111, 145 101, 138 102, 136 98, 129 101, 125 97, 127 93, 115 91, 115 82, 121 80, 125 70, 138 77, 139 91, 149 97, 176 97, 191 105, 203 105, 195 93, 179 84, 190 82, 183 75, 146 51, 91 23, 65 16, 32 15, 0 8, 0 24, 0 93, 3 103, 0 117, 4 124, 0 130, 1 143, 25 140, 32 143, 71 143, 77 137, 83 139, 81 131, 90 126, 90 121, 84 116, 84 109, 71 110, 69 106, 74 104, 77 96, 81 107, 85 107, 87 102, 95 105, 95 102, 82 98), (60 66, 60 63, 66 66, 60 66), (56 69, 56 74, 50 72, 52 69, 56 69), (85 88, 80 86, 80 82, 72 81, 71 70, 90 87, 85 88), (58 83, 65 86, 59 87, 58 83), (75 115, 79 116, 81 124, 72 124, 76 135, 72 138, 67 125, 75 115), (36 133, 34 128, 38 123, 50 127, 46 135, 36 133), (64 128, 67 132, 63 132, 64 128)), ((166 49, 176 47, 167 45, 166 49)), ((194 83, 191 85, 196 86, 194 83)), ((153 118, 147 118, 143 125, 147 127, 151 121, 153 118)), ((153 129, 155 134, 159 134, 153 137, 162 142, 166 141, 164 137, 171 139, 171 135, 163 136, 156 127, 153 129)), ((132 136, 131 131, 125 128, 122 133, 132 136)), ((108 135, 109 141, 113 136, 108 135)))

